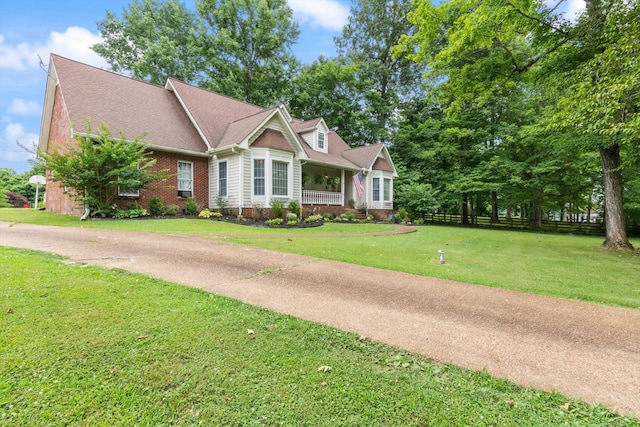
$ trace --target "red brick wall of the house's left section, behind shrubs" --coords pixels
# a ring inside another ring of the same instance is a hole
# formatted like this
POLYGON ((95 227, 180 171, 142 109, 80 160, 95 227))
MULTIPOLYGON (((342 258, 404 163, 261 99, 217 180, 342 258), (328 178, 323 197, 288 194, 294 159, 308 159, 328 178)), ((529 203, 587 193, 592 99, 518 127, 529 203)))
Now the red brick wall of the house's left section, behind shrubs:
MULTIPOLYGON (((94 123, 95 124, 95 123, 94 123)), ((55 147, 62 146, 71 140, 69 117, 65 112, 62 96, 59 88, 56 87, 53 112, 51 117, 51 127, 48 135, 49 145, 47 152, 51 153, 55 147)), ((78 129, 84 124, 74 123, 78 129)), ((167 169, 170 177, 165 182, 152 185, 152 189, 140 191, 138 197, 122 197, 118 200, 118 205, 125 207, 136 202, 143 208, 149 207, 149 199, 153 195, 159 196, 167 205, 178 205, 180 211, 185 208, 186 199, 178 197, 178 160, 193 163, 193 189, 194 196, 198 202, 198 207, 207 207, 209 200, 209 178, 208 166, 209 158, 199 156, 189 156, 185 154, 168 153, 155 150, 150 156, 157 159, 154 168, 156 170, 167 169)), ((74 202, 68 195, 64 194, 63 188, 51 179, 50 172, 47 171, 47 193, 46 210, 50 212, 63 213, 80 216, 83 213, 83 206, 74 202)))

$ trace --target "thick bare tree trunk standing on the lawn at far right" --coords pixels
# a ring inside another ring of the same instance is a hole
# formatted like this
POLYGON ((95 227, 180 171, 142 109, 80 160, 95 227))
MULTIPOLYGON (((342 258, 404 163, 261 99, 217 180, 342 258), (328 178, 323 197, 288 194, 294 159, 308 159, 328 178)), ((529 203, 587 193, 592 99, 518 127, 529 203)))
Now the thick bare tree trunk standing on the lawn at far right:
POLYGON ((620 171, 620 145, 600 149, 604 180, 604 221, 607 249, 633 249, 627 238, 622 198, 622 172, 620 171))

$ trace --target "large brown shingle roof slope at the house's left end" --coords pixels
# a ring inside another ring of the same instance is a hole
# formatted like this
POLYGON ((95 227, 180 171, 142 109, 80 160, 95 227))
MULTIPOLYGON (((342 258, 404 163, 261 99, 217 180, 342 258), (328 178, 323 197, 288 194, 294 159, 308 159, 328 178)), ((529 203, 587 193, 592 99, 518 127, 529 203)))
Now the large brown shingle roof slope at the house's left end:
POLYGON ((180 107, 161 86, 140 82, 58 55, 51 55, 60 91, 71 123, 85 132, 89 117, 92 129, 106 123, 113 135, 121 130, 133 140, 143 133, 155 146, 201 152, 206 145, 180 107))

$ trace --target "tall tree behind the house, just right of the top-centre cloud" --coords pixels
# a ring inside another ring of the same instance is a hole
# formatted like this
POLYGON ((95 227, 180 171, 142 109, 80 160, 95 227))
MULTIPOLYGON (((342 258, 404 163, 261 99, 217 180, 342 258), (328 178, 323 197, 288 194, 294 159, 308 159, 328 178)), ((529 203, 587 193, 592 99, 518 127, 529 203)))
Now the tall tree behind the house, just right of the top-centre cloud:
POLYGON ((412 0, 355 0, 351 16, 335 39, 338 53, 357 65, 363 83, 361 102, 374 133, 365 141, 389 142, 392 119, 399 104, 420 88, 422 66, 403 56, 393 56, 392 48, 403 34, 412 34, 407 19, 412 0))

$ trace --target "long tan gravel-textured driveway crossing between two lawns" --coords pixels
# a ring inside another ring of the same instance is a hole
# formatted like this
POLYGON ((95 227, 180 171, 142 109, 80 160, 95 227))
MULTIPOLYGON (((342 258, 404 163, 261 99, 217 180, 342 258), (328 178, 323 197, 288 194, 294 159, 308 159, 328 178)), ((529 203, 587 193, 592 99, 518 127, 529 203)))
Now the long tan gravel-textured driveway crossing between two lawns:
POLYGON ((640 415, 640 310, 528 295, 201 236, 0 222, 0 245, 194 286, 640 415))

